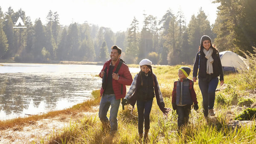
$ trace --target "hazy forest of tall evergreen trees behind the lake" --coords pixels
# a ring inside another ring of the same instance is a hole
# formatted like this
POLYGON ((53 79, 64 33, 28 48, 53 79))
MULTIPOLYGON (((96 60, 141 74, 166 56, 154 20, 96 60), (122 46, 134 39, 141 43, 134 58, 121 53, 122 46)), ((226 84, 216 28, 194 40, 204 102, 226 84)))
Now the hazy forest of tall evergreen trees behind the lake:
MULTIPOLYGON (((122 48, 126 63, 138 63, 149 58, 153 64, 192 64, 202 35, 209 35, 221 51, 253 53, 256 46, 256 0, 215 0, 220 3, 215 23, 199 9, 186 23, 183 12, 168 9, 160 20, 143 14, 143 28, 134 17, 125 32, 114 33, 110 28, 89 23, 62 26, 58 12, 49 11, 44 25, 38 18, 30 20, 19 9, 0 7, 0 60, 24 63, 48 63, 59 60, 106 61, 110 48, 122 48), (21 17, 26 28, 13 28, 21 17), (240 51, 241 50, 241 51, 240 51)), ((211 9, 209 7, 209 9, 211 9)), ((84 18, 86 20, 86 17, 84 18)))

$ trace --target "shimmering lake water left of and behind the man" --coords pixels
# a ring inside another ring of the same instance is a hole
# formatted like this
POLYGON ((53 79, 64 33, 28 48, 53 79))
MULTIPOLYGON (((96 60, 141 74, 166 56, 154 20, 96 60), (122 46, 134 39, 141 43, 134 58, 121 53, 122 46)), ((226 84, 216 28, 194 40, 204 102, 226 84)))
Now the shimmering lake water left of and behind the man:
POLYGON ((86 101, 101 87, 101 69, 96 65, 0 63, 0 120, 61 110, 86 101))

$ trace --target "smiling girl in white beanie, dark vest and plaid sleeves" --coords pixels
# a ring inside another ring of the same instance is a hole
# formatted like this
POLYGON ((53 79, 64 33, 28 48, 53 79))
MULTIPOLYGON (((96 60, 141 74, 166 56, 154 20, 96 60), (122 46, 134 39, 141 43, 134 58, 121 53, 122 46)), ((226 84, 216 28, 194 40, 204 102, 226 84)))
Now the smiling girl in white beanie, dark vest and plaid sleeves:
POLYGON ((165 108, 163 96, 159 88, 156 75, 152 72, 152 62, 148 59, 140 61, 140 72, 134 76, 134 80, 122 104, 131 104, 134 108, 137 102, 138 110, 138 131, 140 141, 143 138, 143 121, 145 121, 145 133, 143 142, 148 139, 150 128, 149 115, 153 104, 153 98, 156 97, 157 105, 164 115, 167 115, 169 108, 165 108))

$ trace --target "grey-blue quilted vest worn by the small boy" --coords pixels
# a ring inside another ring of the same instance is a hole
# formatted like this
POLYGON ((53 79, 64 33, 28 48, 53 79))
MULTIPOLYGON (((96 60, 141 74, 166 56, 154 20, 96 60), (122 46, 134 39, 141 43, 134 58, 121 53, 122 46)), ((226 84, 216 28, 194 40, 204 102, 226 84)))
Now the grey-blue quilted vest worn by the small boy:
MULTIPOLYGON (((176 104, 179 104, 180 101, 180 81, 177 81, 176 86, 176 104)), ((189 92, 189 79, 184 79, 182 81, 182 102, 181 104, 193 104, 190 92, 189 92)))

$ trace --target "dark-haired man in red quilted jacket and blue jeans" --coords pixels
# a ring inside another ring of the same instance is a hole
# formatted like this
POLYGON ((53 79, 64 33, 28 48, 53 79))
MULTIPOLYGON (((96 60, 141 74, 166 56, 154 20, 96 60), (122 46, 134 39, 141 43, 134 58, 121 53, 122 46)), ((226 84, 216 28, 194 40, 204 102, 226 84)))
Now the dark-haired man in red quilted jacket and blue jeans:
POLYGON ((118 73, 114 73, 120 62, 121 53, 122 50, 119 47, 112 46, 110 54, 111 59, 104 63, 104 66, 99 73, 101 78, 106 74, 104 81, 105 87, 100 89, 102 98, 99 104, 99 119, 102 121, 103 125, 108 124, 110 121, 111 135, 115 134, 118 129, 117 113, 120 99, 124 98, 126 94, 125 85, 130 86, 133 81, 129 68, 125 63, 122 63, 118 73), (107 70, 104 72, 106 67, 107 70), (110 106, 110 117, 108 119, 107 112, 110 106))

